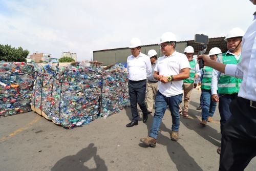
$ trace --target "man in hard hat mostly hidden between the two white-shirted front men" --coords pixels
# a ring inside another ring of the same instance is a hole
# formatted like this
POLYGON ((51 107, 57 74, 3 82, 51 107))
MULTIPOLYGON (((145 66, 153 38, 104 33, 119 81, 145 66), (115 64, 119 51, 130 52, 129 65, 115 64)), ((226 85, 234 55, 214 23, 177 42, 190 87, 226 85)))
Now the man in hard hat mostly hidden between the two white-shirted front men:
POLYGON ((150 57, 152 65, 152 73, 147 77, 147 87, 146 87, 146 106, 148 114, 152 113, 154 101, 156 99, 156 94, 158 90, 158 80, 153 77, 154 69, 157 62, 157 52, 154 49, 151 49, 147 52, 147 56, 150 57))

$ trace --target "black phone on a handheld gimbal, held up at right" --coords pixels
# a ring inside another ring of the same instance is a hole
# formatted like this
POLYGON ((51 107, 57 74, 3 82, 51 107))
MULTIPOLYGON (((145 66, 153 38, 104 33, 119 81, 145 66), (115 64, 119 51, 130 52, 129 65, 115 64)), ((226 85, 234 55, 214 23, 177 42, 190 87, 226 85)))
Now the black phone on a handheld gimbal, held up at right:
MULTIPOLYGON (((198 52, 198 55, 203 55, 207 49, 208 36, 204 34, 195 34, 195 43, 201 44, 201 50, 198 52)), ((204 61, 202 58, 199 60, 199 68, 204 68, 204 61)))

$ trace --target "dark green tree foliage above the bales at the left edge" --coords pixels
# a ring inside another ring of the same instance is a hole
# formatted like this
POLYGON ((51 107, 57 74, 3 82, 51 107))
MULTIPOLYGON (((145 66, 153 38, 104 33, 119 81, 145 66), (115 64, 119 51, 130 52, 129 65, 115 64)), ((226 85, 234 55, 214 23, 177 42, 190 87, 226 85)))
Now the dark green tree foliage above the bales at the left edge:
POLYGON ((23 50, 22 47, 12 48, 11 45, 0 44, 0 60, 24 62, 29 55, 28 50, 23 50))

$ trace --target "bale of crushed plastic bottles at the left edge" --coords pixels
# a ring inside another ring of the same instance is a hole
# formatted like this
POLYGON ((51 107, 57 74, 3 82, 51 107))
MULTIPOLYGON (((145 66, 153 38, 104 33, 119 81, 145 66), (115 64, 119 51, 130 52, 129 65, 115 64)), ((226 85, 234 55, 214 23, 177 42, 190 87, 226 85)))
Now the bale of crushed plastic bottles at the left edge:
POLYGON ((33 66, 0 61, 0 117, 31 111, 34 78, 33 66))

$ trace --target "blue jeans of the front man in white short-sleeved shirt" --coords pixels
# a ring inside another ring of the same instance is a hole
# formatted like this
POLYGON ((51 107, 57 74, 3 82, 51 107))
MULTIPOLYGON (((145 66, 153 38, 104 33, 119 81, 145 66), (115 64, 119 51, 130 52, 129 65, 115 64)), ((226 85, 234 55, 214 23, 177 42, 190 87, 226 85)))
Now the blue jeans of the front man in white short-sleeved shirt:
POLYGON ((156 108, 155 108, 153 123, 151 126, 150 137, 157 139, 159 127, 163 119, 167 105, 169 106, 170 114, 172 115, 172 119, 173 119, 172 131, 179 131, 179 126, 180 126, 179 109, 180 109, 181 100, 182 100, 182 94, 172 96, 172 97, 165 97, 159 91, 157 91, 156 103, 155 103, 156 108))

